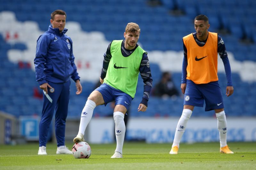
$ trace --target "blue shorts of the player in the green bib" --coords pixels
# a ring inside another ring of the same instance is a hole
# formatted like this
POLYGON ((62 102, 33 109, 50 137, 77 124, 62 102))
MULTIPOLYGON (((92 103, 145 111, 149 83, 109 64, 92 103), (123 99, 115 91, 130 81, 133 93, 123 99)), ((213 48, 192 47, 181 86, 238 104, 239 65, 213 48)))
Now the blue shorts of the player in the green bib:
POLYGON ((123 105, 128 110, 133 99, 129 94, 126 94, 121 90, 115 89, 114 87, 111 87, 106 83, 103 83, 95 90, 99 91, 102 94, 105 106, 109 102, 115 101, 115 106, 123 105))

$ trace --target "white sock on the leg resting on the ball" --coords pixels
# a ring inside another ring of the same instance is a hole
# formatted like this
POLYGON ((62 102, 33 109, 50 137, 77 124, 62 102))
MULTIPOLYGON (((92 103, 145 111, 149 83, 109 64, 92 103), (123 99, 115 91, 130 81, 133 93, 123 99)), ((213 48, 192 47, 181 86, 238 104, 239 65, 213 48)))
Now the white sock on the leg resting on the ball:
POLYGON ((86 101, 84 109, 81 113, 81 119, 80 119, 80 125, 79 125, 78 133, 82 133, 84 135, 84 131, 85 131, 88 123, 92 119, 92 113, 93 113, 93 109, 95 107, 96 107, 96 104, 95 104, 94 101, 89 100, 89 99, 86 101))

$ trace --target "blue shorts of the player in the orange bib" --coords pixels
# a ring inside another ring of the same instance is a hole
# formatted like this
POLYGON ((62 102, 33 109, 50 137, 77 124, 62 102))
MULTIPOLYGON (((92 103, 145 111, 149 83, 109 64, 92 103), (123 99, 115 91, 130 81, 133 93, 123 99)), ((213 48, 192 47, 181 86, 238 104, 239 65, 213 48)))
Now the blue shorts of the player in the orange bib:
POLYGON ((195 84, 193 81, 187 80, 184 105, 204 107, 204 101, 205 111, 224 108, 218 81, 195 84))

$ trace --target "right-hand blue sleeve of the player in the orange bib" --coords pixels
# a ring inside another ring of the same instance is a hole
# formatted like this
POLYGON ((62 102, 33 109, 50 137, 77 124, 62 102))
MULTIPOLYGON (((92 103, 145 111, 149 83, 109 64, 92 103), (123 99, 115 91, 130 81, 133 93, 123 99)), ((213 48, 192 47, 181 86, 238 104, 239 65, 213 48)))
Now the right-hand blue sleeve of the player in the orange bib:
POLYGON ((219 53, 220 58, 222 59, 222 62, 224 64, 225 73, 226 73, 226 77, 227 77, 227 81, 228 81, 227 86, 233 86, 232 78, 231 78, 231 68, 230 68, 230 63, 228 60, 228 54, 226 51, 224 41, 222 40, 222 38, 219 35, 218 35, 218 53, 219 53))

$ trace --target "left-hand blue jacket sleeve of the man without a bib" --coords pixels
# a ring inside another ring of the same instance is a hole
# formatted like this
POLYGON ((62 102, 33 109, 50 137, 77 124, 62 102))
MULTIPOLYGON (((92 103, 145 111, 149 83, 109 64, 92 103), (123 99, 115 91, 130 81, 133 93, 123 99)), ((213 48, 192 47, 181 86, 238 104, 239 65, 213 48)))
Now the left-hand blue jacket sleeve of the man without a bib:
POLYGON ((39 85, 42 85, 46 82, 46 76, 44 74, 44 63, 46 61, 46 55, 49 46, 49 39, 46 35, 41 35, 36 44, 36 57, 34 59, 35 70, 36 70, 36 81, 39 85))

